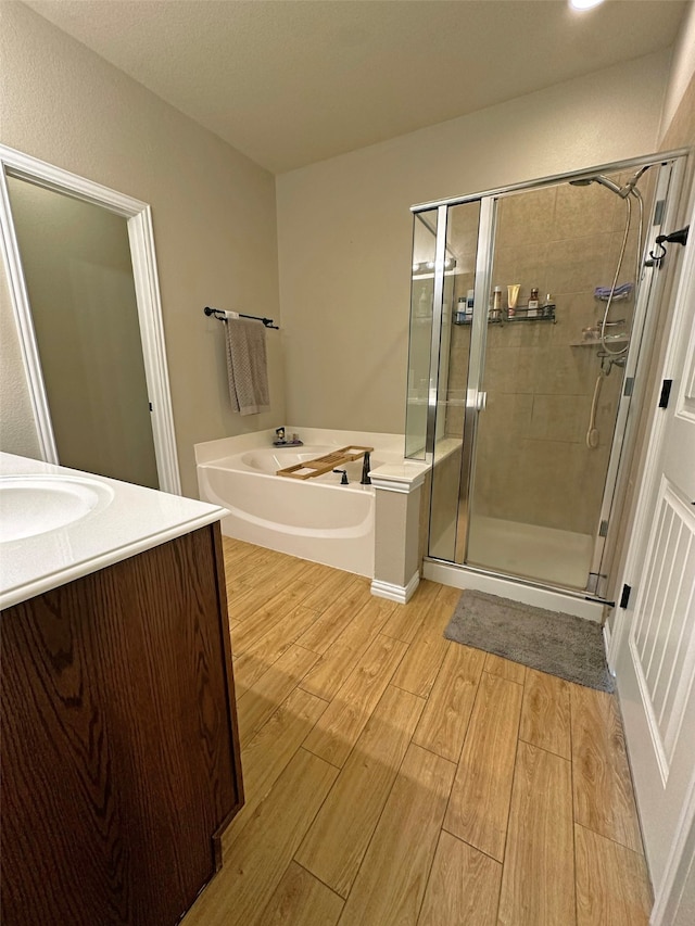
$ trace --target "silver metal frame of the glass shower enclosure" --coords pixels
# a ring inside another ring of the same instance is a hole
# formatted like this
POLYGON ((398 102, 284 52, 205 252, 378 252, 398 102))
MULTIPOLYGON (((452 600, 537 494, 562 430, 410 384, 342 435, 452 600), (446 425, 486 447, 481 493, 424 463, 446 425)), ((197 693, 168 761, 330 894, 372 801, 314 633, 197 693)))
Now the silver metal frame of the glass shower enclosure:
MULTIPOLYGON (((608 584, 608 576, 601 576, 603 582, 595 583, 594 591, 590 591, 592 582, 592 570, 594 566, 597 570, 601 569, 599 563, 604 560, 607 553, 611 553, 616 545, 615 527, 609 532, 602 530, 602 524, 606 520, 606 512, 610 512, 612 506, 618 498, 620 502, 624 498, 624 489, 628 475, 629 466, 623 457, 623 449, 631 447, 634 441, 637 414, 642 407, 644 399, 644 380, 646 379, 646 368, 644 361, 644 351, 641 350, 645 339, 654 334, 655 329, 655 313, 648 313, 648 304, 660 297, 664 291, 664 278, 660 275, 654 274, 654 268, 646 268, 649 271, 648 286, 642 286, 640 295, 648 290, 640 306, 640 316, 637 314, 637 304, 635 304, 631 340, 628 353, 626 355, 626 369, 623 373, 623 389, 618 404, 618 415, 614 426, 611 439, 611 447, 606 477, 604 481, 604 492, 601 505, 601 513, 597 519, 596 529, 594 532, 594 548, 592 554, 592 562, 587 573, 586 588, 577 589, 557 585, 540 579, 532 579, 511 573, 500 572, 494 569, 488 569, 480 566, 471 566, 465 561, 468 553, 468 536, 470 529, 470 487, 475 479, 476 467, 476 437, 478 431, 478 415, 484 408, 485 394, 481 390, 482 376, 484 372, 484 355, 488 334, 488 301, 491 291, 492 279, 492 262, 494 254, 494 233, 496 223, 497 201, 506 195, 514 193, 527 192, 543 187, 558 186, 560 183, 570 182, 571 180, 580 180, 592 177, 596 174, 615 173, 618 170, 636 169, 644 165, 655 166, 670 163, 669 180, 668 180, 668 198, 666 208, 660 216, 659 227, 662 227, 669 221, 674 220, 678 207, 680 193, 682 191, 682 182, 685 170, 685 160, 688 155, 687 149, 679 149, 669 152, 659 152, 657 154, 644 155, 642 157, 633 157, 626 161, 612 162, 603 164, 596 167, 582 170, 573 170, 566 174, 557 174, 549 177, 544 177, 529 182, 514 183, 507 187, 501 187, 494 190, 489 190, 483 193, 475 193, 465 196, 455 196, 446 200, 438 200, 427 203, 419 203, 410 207, 414 215, 424 212, 438 213, 438 239, 435 251, 434 266, 434 297, 433 297, 433 319, 431 329, 431 345, 430 345, 430 389, 428 391, 428 408, 427 408, 427 431, 426 431, 426 459, 434 467, 435 460, 435 429, 438 408, 441 406, 439 396, 439 365, 440 365, 440 345, 442 338, 442 320, 443 320, 443 278, 444 278, 444 253, 446 248, 446 230, 448 220, 448 208, 453 206, 464 205, 465 203, 480 203, 480 219, 478 226, 478 250, 476 258, 476 278, 475 278, 475 301, 473 301, 473 318, 471 325, 469 367, 466 389, 466 404, 464 415, 464 434, 462 441, 462 466, 459 480, 459 497, 457 499, 457 524, 456 524, 456 542, 454 551, 454 561, 442 559, 428 555, 426 560, 432 563, 438 563, 444 567, 451 567, 462 573, 473 573, 491 580, 502 580, 513 582, 515 585, 528 586, 530 589, 545 589, 549 593, 560 594, 564 596, 582 599, 586 602, 596 602, 599 605, 607 604, 605 597, 608 584), (627 389, 629 378, 633 388, 627 389), (620 432, 619 432, 620 428, 620 432), (610 479, 610 484, 609 484, 610 479), (598 585, 602 587, 598 587, 598 585)), ((655 189, 654 204, 657 203, 657 194, 660 189, 659 181, 655 189)), ((649 216, 647 216, 647 219, 649 216)), ((655 225, 645 227, 645 241, 643 244, 643 254, 646 253, 646 245, 649 233, 655 234, 655 225)), ((643 267, 643 272, 645 268, 643 267)), ((431 500, 430 500, 431 505, 431 500)), ((620 519, 614 519, 620 520, 620 519)), ((609 523, 609 522, 608 522, 609 523)), ((597 576, 598 580, 599 576, 597 576)))

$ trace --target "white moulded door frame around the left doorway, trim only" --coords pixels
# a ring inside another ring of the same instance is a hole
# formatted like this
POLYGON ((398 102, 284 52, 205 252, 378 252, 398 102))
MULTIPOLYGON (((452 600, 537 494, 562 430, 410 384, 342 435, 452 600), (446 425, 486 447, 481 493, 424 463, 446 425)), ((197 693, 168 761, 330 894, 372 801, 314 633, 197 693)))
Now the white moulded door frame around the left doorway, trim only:
POLYGON ((31 306, 22 268, 20 245, 12 219, 8 174, 47 190, 101 206, 126 219, 160 489, 180 495, 181 481, 162 322, 152 210, 140 200, 0 144, 0 246, 8 268, 10 296, 41 459, 46 462, 59 464, 60 460, 36 342, 31 306))

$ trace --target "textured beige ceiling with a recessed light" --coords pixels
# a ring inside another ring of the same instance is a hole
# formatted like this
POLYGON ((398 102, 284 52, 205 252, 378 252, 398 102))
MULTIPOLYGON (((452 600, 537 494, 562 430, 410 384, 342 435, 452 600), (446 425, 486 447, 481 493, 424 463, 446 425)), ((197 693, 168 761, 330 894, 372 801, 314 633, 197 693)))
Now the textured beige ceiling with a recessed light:
MULTIPOLYGON (((274 173, 671 46, 685 0, 26 0, 274 173)), ((635 88, 639 92, 639 88, 635 88)))

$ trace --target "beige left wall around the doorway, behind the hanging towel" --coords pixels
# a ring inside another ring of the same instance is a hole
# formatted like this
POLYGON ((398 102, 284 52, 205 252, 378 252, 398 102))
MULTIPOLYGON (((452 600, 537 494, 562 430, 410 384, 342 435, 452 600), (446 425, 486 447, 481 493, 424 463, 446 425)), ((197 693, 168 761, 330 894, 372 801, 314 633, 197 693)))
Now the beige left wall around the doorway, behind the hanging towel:
MULTIPOLYGON (((268 331, 273 408, 241 418, 222 324, 203 316, 216 305, 279 319, 275 180, 24 5, 0 4, 0 20, 2 143, 152 206, 184 492, 197 495, 194 443, 285 423, 281 332, 268 331)), ((9 313, 3 300, 3 328, 9 313)), ((5 360, 2 446, 28 453, 12 341, 5 360)))

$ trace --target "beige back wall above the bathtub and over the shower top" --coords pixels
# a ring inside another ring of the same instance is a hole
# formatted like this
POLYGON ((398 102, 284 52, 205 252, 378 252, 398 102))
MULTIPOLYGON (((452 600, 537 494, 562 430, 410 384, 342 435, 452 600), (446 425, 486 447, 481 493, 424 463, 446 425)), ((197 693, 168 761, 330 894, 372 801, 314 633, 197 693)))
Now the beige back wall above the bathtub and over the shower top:
POLYGON ((649 55, 278 177, 288 418, 402 430, 408 207, 649 153, 668 66, 649 55))

